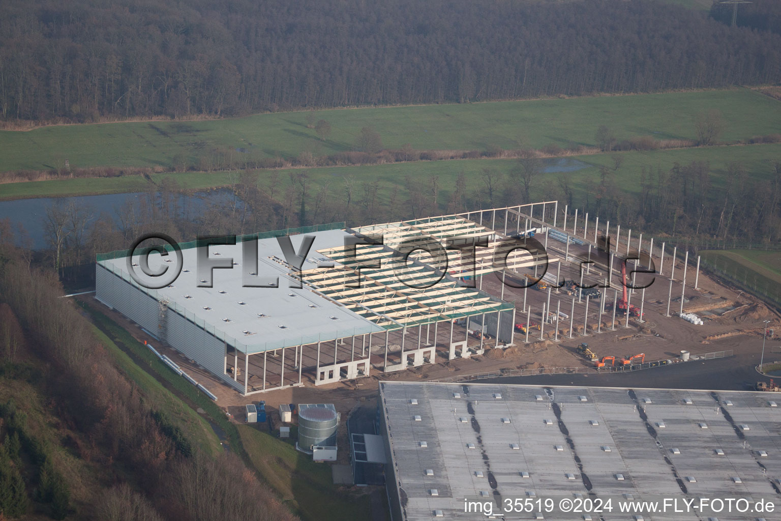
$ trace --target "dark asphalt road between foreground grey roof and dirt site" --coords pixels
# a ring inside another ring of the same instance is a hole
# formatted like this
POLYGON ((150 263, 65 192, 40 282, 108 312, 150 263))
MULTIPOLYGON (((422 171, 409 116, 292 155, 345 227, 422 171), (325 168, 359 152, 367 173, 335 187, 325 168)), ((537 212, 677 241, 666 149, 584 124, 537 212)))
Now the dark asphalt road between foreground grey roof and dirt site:
MULTIPOLYGON (((755 367, 754 355, 733 355, 724 359, 692 360, 672 366, 644 369, 634 373, 543 374, 476 380, 482 384, 581 385, 591 387, 651 387, 665 389, 704 389, 713 391, 753 391, 758 380, 769 381, 755 367)), ((781 380, 781 379, 779 379, 781 380)))

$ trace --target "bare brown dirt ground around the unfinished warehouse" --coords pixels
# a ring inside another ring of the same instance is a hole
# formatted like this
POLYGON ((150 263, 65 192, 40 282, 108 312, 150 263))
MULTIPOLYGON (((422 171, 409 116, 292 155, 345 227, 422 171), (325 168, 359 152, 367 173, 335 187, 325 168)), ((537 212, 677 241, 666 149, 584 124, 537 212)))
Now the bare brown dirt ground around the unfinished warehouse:
MULTIPOLYGON (((623 247, 622 247, 623 248, 623 247)), ((550 241, 548 252, 551 259, 549 271, 558 274, 559 280, 579 280, 580 271, 575 272, 573 266, 577 262, 562 262, 562 268, 557 263, 565 257, 563 243, 550 241)), ((569 248, 569 259, 574 256, 586 255, 583 247, 569 248)), ((659 262, 661 259, 654 259, 659 262)), ((620 275, 612 276, 612 284, 608 289, 602 289, 603 298, 578 298, 579 295, 566 294, 562 289, 556 291, 540 291, 533 287, 524 289, 508 287, 502 289, 501 280, 494 275, 481 277, 478 287, 483 291, 504 298, 505 301, 515 302, 515 323, 526 323, 527 316, 534 322, 543 320, 543 306, 556 311, 560 310, 566 315, 558 320, 558 333, 554 323, 544 324, 542 330, 530 330, 528 342, 526 334, 516 332, 514 343, 506 348, 491 348, 495 339, 486 342, 486 351, 483 355, 473 355, 469 359, 456 359, 447 361, 446 341, 447 334, 442 332, 437 336, 437 361, 395 373, 382 373, 382 360, 379 355, 372 356, 373 369, 371 376, 358 380, 343 381, 337 384, 328 384, 315 387, 312 380, 304 379, 302 387, 288 387, 277 391, 269 391, 261 394, 253 394, 243 397, 225 384, 219 383, 213 376, 197 365, 184 359, 173 349, 161 346, 172 359, 190 373, 191 376, 218 397, 218 404, 233 416, 234 420, 244 421, 244 405, 259 400, 266 401, 266 409, 269 411, 269 429, 276 430, 280 425, 278 406, 283 403, 333 403, 342 413, 343 419, 355 408, 369 405, 376 396, 378 381, 380 380, 451 380, 461 381, 480 378, 487 373, 497 373, 500 370, 512 369, 547 369, 547 371, 562 373, 552 368, 594 368, 594 362, 585 359, 576 352, 577 346, 585 342, 591 351, 598 357, 615 356, 616 360, 644 353, 645 361, 673 360, 677 361, 680 351, 690 351, 691 355, 700 355, 715 351, 732 350, 734 355, 729 359, 711 360, 708 362, 692 361, 678 363, 675 366, 658 367, 633 373, 600 374, 596 369, 589 369, 587 374, 563 374, 545 376, 525 376, 514 378, 514 383, 577 383, 594 385, 621 385, 637 387, 680 387, 690 386, 698 388, 740 388, 752 379, 761 379, 761 375, 755 373, 754 366, 759 363, 762 348, 763 327, 765 320, 768 329, 773 330, 773 336, 768 337, 765 343, 765 362, 781 360, 781 316, 760 301, 746 294, 744 291, 736 291, 733 288, 719 284, 704 273, 696 278, 695 266, 690 262, 686 273, 686 286, 683 291, 683 312, 695 312, 703 319, 703 325, 694 325, 676 316, 681 309, 680 298, 682 294, 683 262, 676 263, 675 280, 672 286, 669 282, 670 260, 665 259, 662 266, 662 275, 657 275, 653 284, 644 291, 643 312, 644 320, 629 319, 616 316, 615 323, 611 311, 604 310, 602 306, 614 301, 616 295, 621 298, 619 290, 620 275), (695 278, 697 289, 694 289, 695 278), (671 316, 668 312, 668 297, 670 296, 671 316), (588 306, 588 307, 587 307, 588 306), (574 312, 573 312, 574 310, 574 312), (585 326, 585 327, 584 327, 585 326), (570 330, 572 328, 572 337, 570 330), (379 366, 379 369, 376 369, 379 366), (682 366, 686 366, 682 369, 682 366), (740 366, 741 373, 730 373, 740 366), (719 370, 714 370, 718 369, 719 370), (745 381, 725 381, 745 380, 745 381), (696 380, 696 384, 694 384, 696 380), (726 386, 726 387, 725 387, 726 386)), ((650 276, 643 276, 650 277, 650 276)), ((583 284, 604 283, 606 275, 596 266, 590 268, 589 273, 583 277, 583 284)), ((647 283, 649 280, 636 280, 637 285, 647 283)), ((630 303, 640 306, 643 291, 636 290, 629 295, 630 303)), ((126 327, 139 341, 150 341, 157 344, 140 327, 131 323, 117 312, 106 309, 92 301, 92 305, 101 308, 101 312, 112 317, 117 323, 126 327)), ((547 315, 547 313, 546 313, 547 315)), ((424 330, 425 331, 425 330, 424 330)), ((464 326, 460 327, 460 334, 465 335, 464 326)), ((424 333, 425 334, 425 333, 424 333)), ((428 341, 428 334, 426 334, 428 341)), ((476 346, 480 341, 469 337, 470 346, 476 346)), ((345 349, 343 347, 340 350, 345 349)), ((372 349, 374 354, 374 349, 372 349)), ((304 360, 307 366, 307 360, 304 360)), ((287 369, 286 369, 287 370, 287 369)), ((546 372, 547 372, 546 371, 546 372)), ((542 372, 542 371, 540 371, 542 372)), ((265 428, 265 427, 261 427, 265 428)), ((346 421, 341 422, 341 441, 346 447, 346 421)), ((346 461, 348 451, 341 451, 340 460, 346 461)))

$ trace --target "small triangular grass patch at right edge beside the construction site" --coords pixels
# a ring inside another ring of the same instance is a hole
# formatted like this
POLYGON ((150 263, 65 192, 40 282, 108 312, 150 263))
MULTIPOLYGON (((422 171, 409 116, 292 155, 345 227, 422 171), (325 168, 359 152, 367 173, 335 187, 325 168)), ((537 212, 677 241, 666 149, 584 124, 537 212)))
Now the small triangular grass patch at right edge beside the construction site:
POLYGON ((700 255, 717 273, 781 302, 781 252, 704 250, 700 255))

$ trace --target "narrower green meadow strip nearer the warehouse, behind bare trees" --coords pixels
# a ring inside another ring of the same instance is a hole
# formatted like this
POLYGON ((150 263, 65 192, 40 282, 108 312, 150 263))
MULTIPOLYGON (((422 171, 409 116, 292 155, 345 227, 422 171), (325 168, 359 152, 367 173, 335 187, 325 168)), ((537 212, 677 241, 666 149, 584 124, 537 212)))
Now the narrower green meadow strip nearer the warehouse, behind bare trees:
MULTIPOLYGON (((668 170, 675 162, 686 164, 695 160, 708 161, 714 172, 716 187, 724 184, 726 169, 730 162, 739 162, 746 166, 752 179, 764 179, 772 172, 772 163, 781 161, 781 144, 744 145, 729 147, 681 148, 676 150, 658 150, 654 152, 615 152, 614 154, 573 156, 589 164, 587 168, 572 172, 544 173, 533 185, 533 195, 543 197, 547 186, 555 183, 558 177, 565 176, 576 191, 577 197, 584 198, 583 191, 599 179, 598 166, 612 166, 612 155, 620 154, 623 164, 616 183, 622 190, 637 193, 640 191, 640 170, 643 166, 655 170, 657 167, 668 170)), ((415 161, 390 163, 373 166, 335 166, 308 169, 312 185, 330 184, 333 193, 339 193, 346 177, 355 177, 359 182, 365 180, 380 181, 380 200, 387 201, 394 185, 404 183, 405 176, 426 178, 431 175, 440 177, 440 201, 447 202, 449 187, 455 182, 458 173, 464 172, 470 190, 479 189, 482 181, 480 173, 484 168, 505 173, 515 166, 513 159, 463 159, 453 161, 415 161)), ((291 170, 279 170, 277 175, 281 184, 287 184, 287 173, 291 170)), ((300 170, 298 170, 300 171, 300 170)), ((260 171, 260 184, 263 186, 272 175, 269 170, 260 171)), ((203 190, 212 187, 224 187, 234 184, 236 172, 216 173, 159 173, 152 175, 155 184, 164 178, 177 180, 181 187, 191 190, 203 190)), ((130 191, 145 191, 148 181, 140 176, 96 179, 64 179, 34 181, 24 183, 0 184, 0 200, 34 197, 64 197, 68 195, 109 194, 130 191)), ((403 187, 402 187, 403 195, 403 187)), ((580 202, 580 201, 576 201, 580 202)))

